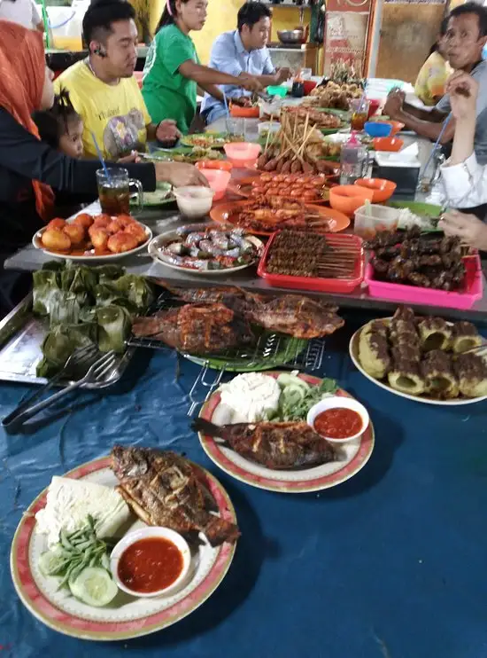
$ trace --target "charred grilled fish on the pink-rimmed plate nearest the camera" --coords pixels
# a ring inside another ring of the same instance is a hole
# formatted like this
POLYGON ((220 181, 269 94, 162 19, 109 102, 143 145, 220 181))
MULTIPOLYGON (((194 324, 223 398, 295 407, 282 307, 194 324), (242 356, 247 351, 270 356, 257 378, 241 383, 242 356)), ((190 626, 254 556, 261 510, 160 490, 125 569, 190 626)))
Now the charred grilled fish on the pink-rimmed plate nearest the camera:
POLYGON ((207 509, 209 492, 197 467, 174 452, 115 445, 112 471, 120 482, 120 495, 148 525, 182 535, 203 532, 213 546, 233 544, 239 537, 234 523, 207 509))

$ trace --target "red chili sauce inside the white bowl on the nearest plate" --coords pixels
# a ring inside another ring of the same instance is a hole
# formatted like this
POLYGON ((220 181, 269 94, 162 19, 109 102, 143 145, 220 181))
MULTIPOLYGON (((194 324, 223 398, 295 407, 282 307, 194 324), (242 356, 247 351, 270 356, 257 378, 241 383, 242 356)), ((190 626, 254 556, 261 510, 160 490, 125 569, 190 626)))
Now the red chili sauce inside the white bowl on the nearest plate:
POLYGON ((129 590, 149 594, 164 590, 182 572, 182 552, 163 537, 139 539, 119 560, 119 578, 129 590))

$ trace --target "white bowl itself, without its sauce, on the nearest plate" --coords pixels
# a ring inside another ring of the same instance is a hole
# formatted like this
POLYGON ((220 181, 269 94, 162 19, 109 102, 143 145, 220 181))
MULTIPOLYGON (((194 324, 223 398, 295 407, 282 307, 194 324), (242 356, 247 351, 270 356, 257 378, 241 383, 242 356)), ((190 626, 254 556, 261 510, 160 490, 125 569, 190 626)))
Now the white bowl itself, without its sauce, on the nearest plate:
POLYGON ((171 592, 178 589, 182 584, 184 578, 188 575, 189 565, 191 563, 191 552, 189 550, 189 545, 186 539, 182 537, 178 532, 174 532, 169 528, 160 528, 157 526, 151 526, 147 528, 141 528, 134 530, 133 532, 128 532, 125 537, 120 539, 120 542, 115 545, 115 548, 112 551, 110 556, 110 570, 112 571, 112 578, 115 583, 120 587, 120 590, 126 591, 132 596, 140 597, 143 599, 150 599, 155 596, 161 596, 161 594, 170 594, 171 592), (134 591, 127 587, 126 584, 122 583, 119 576, 119 560, 122 554, 127 551, 128 547, 135 542, 140 541, 141 539, 149 539, 153 537, 158 537, 162 539, 167 539, 172 542, 179 548, 182 554, 182 570, 181 574, 176 578, 174 583, 170 584, 168 587, 158 590, 158 591, 134 591))

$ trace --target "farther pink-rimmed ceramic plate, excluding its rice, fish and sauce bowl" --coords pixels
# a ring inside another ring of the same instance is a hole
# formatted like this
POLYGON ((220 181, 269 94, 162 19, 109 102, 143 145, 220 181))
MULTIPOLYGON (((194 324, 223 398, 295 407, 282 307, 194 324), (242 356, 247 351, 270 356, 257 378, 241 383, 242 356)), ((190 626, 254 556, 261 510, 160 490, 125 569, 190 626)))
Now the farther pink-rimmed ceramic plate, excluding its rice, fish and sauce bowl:
MULTIPOLYGON (((267 372, 266 374, 278 377, 281 373, 267 372)), ((299 377, 312 386, 321 382, 319 378, 311 375, 300 374, 299 377)), ((336 395, 352 397, 342 389, 336 395)), ((199 415, 206 420, 212 420, 215 425, 223 425, 226 420, 222 407, 220 393, 216 391, 205 402, 199 415)), ((236 480, 269 491, 305 493, 335 487, 336 484, 345 482, 359 473, 359 470, 367 464, 372 450, 374 450, 375 435, 374 426, 370 423, 359 439, 340 445, 336 461, 313 468, 290 471, 273 471, 265 466, 260 466, 241 457, 234 450, 215 443, 210 436, 199 434, 199 440, 208 457, 213 459, 214 463, 223 471, 233 475, 236 480)))

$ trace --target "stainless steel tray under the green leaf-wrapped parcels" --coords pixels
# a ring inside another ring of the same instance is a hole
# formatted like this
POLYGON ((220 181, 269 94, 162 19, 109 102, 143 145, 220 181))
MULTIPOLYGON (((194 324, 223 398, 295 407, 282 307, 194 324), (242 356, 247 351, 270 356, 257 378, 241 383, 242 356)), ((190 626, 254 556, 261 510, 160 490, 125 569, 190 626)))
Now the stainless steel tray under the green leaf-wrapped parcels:
MULTIPOLYGON (((35 366, 43 357, 41 345, 48 331, 48 322, 32 313, 32 294, 28 294, 0 321, 0 380, 23 384, 47 383, 45 378, 37 377, 35 366)), ((104 380, 85 384, 82 388, 107 388, 115 384, 125 372, 134 352, 134 348, 128 348, 104 380)), ((69 381, 60 381, 59 386, 67 383, 69 381)))

